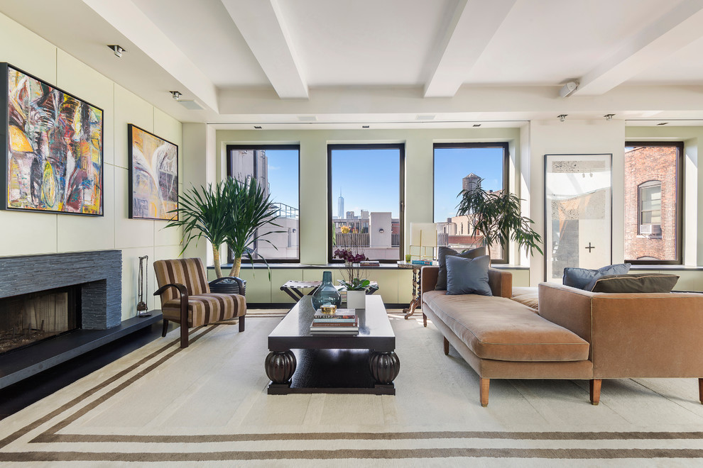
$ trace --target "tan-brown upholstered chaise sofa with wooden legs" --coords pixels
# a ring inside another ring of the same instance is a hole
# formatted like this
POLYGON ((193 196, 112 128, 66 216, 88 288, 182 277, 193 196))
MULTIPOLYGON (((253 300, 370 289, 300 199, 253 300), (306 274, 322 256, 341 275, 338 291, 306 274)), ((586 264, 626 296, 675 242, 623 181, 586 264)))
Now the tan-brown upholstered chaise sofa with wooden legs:
MULTIPOLYGON (((423 317, 481 378, 589 379, 599 403, 601 379, 696 377, 703 403, 703 294, 607 294, 539 286, 539 312, 512 295, 512 276, 489 269, 494 296, 435 291, 438 267, 423 267, 423 317)), ((425 321, 426 325, 426 321, 425 321)))

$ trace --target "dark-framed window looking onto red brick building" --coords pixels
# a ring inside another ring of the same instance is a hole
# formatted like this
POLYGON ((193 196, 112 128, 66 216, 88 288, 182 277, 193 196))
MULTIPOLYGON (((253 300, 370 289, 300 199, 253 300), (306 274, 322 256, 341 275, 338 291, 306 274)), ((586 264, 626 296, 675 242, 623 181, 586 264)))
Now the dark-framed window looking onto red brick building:
POLYGON ((628 142, 625 148, 625 259, 680 264, 683 143, 628 142))

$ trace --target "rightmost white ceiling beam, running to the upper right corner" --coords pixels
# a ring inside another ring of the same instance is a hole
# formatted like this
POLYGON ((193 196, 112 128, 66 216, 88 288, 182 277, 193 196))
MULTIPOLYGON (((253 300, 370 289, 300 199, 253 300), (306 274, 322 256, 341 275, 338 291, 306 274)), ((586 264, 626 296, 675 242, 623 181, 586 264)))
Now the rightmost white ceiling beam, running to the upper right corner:
POLYGON ((702 36, 703 0, 686 0, 628 38, 617 52, 579 80, 573 94, 605 94, 702 36))

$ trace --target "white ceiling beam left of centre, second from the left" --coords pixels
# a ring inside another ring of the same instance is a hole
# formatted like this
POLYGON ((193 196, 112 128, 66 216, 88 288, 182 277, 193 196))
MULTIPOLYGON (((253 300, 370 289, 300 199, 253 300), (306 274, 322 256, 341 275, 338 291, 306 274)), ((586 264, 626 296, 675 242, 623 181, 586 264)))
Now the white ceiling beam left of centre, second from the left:
POLYGON ((307 99, 293 41, 277 0, 222 0, 280 99, 307 99))

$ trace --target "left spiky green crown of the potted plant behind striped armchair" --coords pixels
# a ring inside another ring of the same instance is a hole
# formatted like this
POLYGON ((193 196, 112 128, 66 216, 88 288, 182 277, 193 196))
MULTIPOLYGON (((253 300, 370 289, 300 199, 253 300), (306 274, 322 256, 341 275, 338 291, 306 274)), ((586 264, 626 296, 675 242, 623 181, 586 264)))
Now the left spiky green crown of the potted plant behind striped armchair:
POLYGON ((170 221, 167 228, 183 228, 183 250, 195 240, 206 238, 212 243, 212 256, 218 278, 222 278, 220 268, 219 247, 227 240, 229 225, 230 205, 224 197, 226 182, 208 184, 204 186, 191 186, 185 194, 178 196, 178 208, 169 213, 178 213, 178 220, 170 221))

